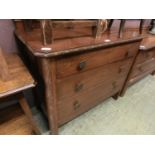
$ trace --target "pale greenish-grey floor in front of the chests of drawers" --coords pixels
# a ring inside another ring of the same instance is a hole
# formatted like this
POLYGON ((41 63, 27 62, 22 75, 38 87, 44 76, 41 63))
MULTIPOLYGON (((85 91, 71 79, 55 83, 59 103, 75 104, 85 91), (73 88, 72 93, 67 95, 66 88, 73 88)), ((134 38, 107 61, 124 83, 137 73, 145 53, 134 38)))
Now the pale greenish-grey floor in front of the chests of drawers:
POLYGON ((65 124, 60 134, 155 134, 155 76, 131 86, 117 101, 109 98, 65 124))

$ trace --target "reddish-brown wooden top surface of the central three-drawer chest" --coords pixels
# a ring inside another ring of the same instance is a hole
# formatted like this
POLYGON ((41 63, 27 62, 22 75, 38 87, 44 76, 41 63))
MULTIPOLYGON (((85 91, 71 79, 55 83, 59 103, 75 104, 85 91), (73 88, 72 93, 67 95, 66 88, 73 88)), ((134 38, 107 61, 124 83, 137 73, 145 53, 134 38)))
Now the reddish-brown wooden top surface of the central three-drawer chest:
POLYGON ((142 40, 137 31, 125 32, 122 38, 118 38, 117 32, 106 32, 100 38, 79 37, 70 39, 60 39, 53 44, 43 46, 38 39, 37 33, 26 33, 15 31, 16 37, 27 46, 29 51, 38 57, 57 57, 67 54, 85 53, 88 50, 97 48, 107 48, 142 40))

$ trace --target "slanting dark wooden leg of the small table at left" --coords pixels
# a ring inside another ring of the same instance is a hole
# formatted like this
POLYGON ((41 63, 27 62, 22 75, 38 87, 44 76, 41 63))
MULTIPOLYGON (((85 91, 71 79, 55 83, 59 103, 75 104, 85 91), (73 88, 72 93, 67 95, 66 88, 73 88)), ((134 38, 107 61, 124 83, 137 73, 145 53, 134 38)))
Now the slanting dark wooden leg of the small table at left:
POLYGON ((21 108, 23 109, 24 113, 28 117, 34 132, 36 134, 41 134, 39 129, 38 129, 38 127, 37 127, 37 125, 35 124, 35 122, 33 120, 33 115, 32 115, 31 109, 30 109, 30 107, 29 107, 29 105, 28 105, 28 103, 27 103, 23 93, 21 93, 18 96, 18 100, 19 100, 19 104, 20 104, 21 108))

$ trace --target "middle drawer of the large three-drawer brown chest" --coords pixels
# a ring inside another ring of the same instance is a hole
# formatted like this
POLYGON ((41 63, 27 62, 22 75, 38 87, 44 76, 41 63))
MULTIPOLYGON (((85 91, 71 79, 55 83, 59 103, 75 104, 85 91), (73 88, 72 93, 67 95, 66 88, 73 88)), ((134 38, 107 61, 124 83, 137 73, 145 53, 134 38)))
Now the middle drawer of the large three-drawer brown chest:
POLYGON ((125 61, 115 62, 63 79, 58 79, 58 100, 82 93, 103 83, 114 81, 120 76, 124 76, 125 78, 127 76, 132 60, 133 58, 129 58, 125 61))

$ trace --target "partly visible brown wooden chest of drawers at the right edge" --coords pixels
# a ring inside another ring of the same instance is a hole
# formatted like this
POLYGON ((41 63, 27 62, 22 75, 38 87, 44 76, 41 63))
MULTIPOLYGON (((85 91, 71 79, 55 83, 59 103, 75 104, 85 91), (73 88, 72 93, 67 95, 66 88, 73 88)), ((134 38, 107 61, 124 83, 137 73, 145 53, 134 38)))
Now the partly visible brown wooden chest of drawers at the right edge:
POLYGON ((128 86, 141 80, 143 77, 155 73, 155 36, 147 34, 143 39, 139 52, 136 56, 134 65, 128 76, 126 86, 124 87, 121 96, 124 95, 128 86))

